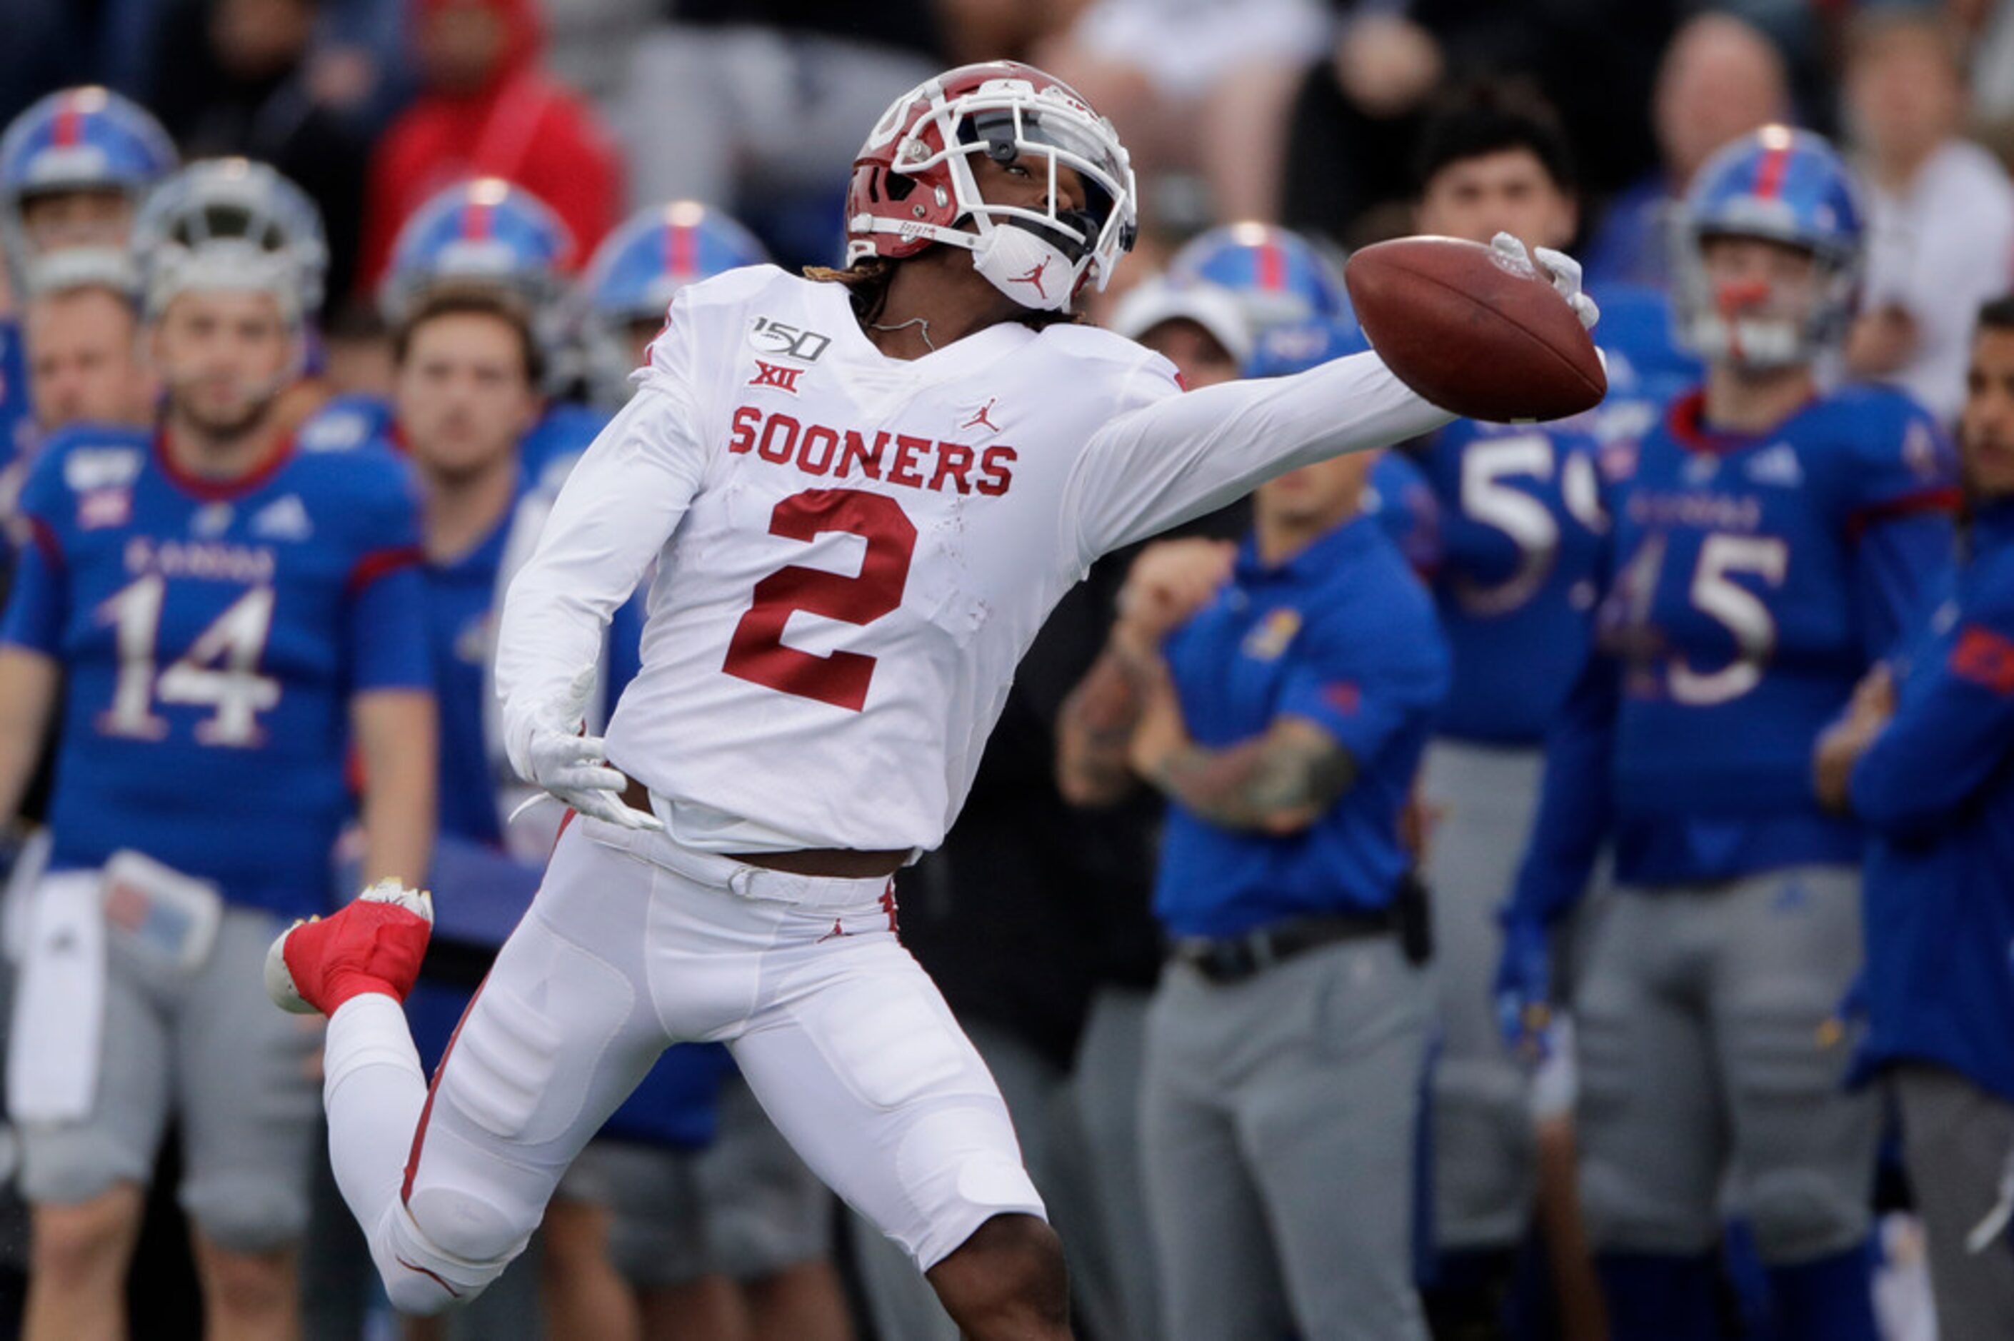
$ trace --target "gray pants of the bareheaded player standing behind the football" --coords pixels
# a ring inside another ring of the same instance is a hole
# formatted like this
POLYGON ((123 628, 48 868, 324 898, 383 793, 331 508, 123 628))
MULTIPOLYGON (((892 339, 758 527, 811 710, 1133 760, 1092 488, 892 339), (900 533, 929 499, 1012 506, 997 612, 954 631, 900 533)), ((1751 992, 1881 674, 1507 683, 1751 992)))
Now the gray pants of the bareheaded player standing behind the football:
POLYGON ((1539 1178, 1531 1077, 1496 1029, 1502 956, 1496 910, 1510 894, 1539 809, 1539 749, 1436 739, 1420 767, 1434 898, 1440 1053, 1434 1061, 1434 1238, 1508 1248, 1525 1236, 1539 1178))

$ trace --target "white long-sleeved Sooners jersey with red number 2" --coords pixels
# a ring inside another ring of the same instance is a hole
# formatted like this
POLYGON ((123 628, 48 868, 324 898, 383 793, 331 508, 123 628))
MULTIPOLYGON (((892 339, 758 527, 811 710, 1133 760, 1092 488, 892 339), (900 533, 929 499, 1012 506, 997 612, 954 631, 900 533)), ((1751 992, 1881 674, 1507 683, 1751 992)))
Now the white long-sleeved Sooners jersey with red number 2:
POLYGON ((1370 354, 1192 395, 1090 326, 888 358, 773 266, 681 290, 638 379, 512 584, 497 691, 528 733, 657 558, 608 759, 707 852, 934 848, 1092 560, 1448 421, 1370 354))

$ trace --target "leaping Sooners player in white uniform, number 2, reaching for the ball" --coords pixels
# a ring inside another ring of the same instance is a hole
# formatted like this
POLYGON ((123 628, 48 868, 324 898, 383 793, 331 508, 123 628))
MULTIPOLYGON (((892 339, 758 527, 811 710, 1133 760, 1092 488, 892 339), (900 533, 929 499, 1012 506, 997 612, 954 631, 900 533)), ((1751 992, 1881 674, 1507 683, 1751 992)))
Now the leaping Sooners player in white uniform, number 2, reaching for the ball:
POLYGON ((512 761, 582 822, 431 1099, 399 1011, 423 896, 375 888, 274 944, 276 999, 332 1017, 330 1158, 403 1309, 487 1285, 665 1043, 719 1039, 967 1333, 1065 1335, 1061 1248, 894 936, 890 876, 943 840, 1015 662, 1096 556, 1448 419, 1368 356, 1180 395, 1071 324, 1132 238, 1134 181, 1110 125, 1027 66, 896 99, 848 232, 832 282, 749 268, 679 294, 510 590, 512 761), (580 701, 653 556, 602 763, 580 701))

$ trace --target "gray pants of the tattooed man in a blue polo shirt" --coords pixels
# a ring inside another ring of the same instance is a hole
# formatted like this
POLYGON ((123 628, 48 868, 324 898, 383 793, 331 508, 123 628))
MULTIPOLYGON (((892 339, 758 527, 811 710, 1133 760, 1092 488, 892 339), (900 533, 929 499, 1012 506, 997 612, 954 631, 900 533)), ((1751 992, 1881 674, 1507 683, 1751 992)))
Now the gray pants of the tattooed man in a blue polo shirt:
POLYGON ((1239 983, 1168 966, 1140 1093, 1164 1337, 1424 1341, 1412 1226, 1430 1017, 1432 979, 1394 936, 1239 983))

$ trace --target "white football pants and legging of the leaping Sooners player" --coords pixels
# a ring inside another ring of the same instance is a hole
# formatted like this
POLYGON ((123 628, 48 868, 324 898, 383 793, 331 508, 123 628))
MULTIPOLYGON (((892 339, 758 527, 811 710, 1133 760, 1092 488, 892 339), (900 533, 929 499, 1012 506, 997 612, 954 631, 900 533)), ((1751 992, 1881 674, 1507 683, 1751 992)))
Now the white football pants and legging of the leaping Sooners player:
POLYGON ((489 1285, 681 1041, 727 1043, 806 1164, 922 1271, 997 1214, 1041 1216, 999 1087, 896 940, 892 888, 576 820, 431 1089, 397 1003, 344 1003, 328 1154, 393 1305, 489 1285))

